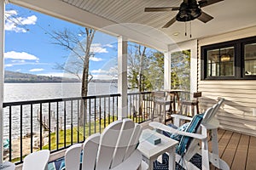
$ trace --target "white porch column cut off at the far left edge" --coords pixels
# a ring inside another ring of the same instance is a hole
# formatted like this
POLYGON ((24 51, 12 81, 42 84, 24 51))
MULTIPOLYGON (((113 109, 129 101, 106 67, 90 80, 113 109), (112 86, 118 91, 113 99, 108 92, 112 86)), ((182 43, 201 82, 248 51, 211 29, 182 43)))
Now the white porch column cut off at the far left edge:
POLYGON ((4 54, 4 0, 0 0, 0 163, 3 162, 3 54, 4 54))

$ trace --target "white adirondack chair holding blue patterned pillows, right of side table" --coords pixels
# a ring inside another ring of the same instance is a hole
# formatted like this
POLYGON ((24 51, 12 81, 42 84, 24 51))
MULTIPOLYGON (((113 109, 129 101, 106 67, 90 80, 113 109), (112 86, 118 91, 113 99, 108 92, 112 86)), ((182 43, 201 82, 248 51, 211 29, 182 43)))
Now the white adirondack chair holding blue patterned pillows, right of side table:
MULTIPOLYGON (((178 131, 175 128, 168 127, 166 125, 161 124, 160 122, 150 122, 149 126, 154 127, 154 129, 157 129, 158 131, 166 131, 168 133, 177 133, 181 134, 183 136, 191 137, 192 140, 189 144, 189 147, 186 149, 183 158, 181 159, 181 156, 177 154, 176 161, 180 162, 180 160, 183 161, 183 168, 185 169, 198 169, 193 165, 189 160, 195 156, 196 153, 201 155, 202 158, 202 165, 201 169, 208 170, 210 169, 210 162, 212 162, 212 165, 215 167, 218 167, 219 169, 229 170, 230 167, 228 164, 221 160, 218 156, 218 126, 219 122, 218 119, 216 119, 215 115, 218 111, 218 108, 222 103, 224 102, 224 99, 219 99, 218 103, 213 105, 212 107, 208 108, 205 112, 202 120, 201 120, 201 126, 199 126, 196 129, 196 133, 188 133, 183 131, 178 131), (207 142, 207 130, 212 130, 212 152, 209 152, 208 150, 208 142, 207 142), (199 146, 199 142, 201 141, 201 147, 199 146)), ((179 127, 179 123, 182 120, 191 121, 192 118, 188 116, 181 116, 181 115, 172 115, 174 118, 174 125, 179 127)))

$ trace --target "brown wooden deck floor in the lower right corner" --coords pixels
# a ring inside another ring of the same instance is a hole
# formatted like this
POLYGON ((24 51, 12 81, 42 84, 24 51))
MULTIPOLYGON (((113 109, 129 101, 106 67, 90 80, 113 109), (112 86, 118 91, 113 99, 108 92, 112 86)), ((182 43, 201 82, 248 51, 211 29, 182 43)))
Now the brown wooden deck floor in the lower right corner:
MULTIPOLYGON (((219 156, 230 169, 256 170, 256 137, 218 129, 218 148, 219 156)), ((211 169, 215 168, 212 166, 211 169)))

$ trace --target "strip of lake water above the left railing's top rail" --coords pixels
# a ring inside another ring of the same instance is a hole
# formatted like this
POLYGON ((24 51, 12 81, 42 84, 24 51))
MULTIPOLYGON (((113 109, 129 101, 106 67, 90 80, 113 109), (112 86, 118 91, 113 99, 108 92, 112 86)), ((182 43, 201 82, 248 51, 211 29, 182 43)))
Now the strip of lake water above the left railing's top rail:
MULTIPOLYGON (((116 83, 90 82, 88 95, 116 94, 116 83)), ((81 83, 5 83, 4 102, 79 97, 81 83)))

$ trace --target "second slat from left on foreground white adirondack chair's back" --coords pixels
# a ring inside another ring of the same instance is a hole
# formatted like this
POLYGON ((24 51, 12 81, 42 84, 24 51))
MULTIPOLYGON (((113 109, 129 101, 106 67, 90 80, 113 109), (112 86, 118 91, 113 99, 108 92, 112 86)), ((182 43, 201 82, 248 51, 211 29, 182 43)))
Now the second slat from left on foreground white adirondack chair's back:
POLYGON ((83 146, 82 170, 94 169, 96 165, 96 156, 100 144, 101 134, 95 133, 85 140, 83 146))

